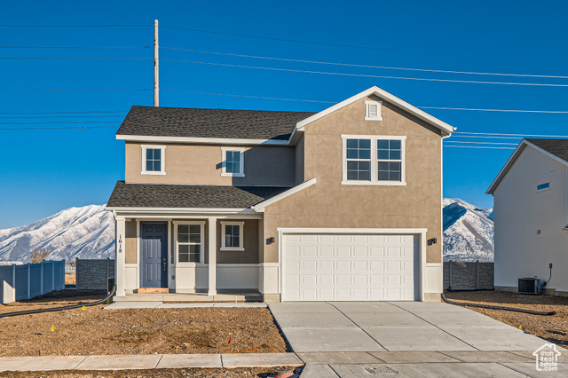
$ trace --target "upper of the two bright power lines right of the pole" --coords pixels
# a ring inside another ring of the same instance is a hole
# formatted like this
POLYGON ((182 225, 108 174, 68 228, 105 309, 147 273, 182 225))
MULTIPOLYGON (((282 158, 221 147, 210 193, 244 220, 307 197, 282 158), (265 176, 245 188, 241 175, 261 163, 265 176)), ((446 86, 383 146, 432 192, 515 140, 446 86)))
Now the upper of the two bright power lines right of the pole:
POLYGON ((387 66, 367 66, 367 65, 359 65, 359 64, 350 64, 350 63, 325 62, 325 61, 319 61, 319 60, 286 59, 286 58, 263 57, 263 56, 256 56, 256 55, 232 54, 232 53, 228 53, 228 52, 187 50, 187 49, 177 49, 177 48, 172 48, 172 47, 160 47, 160 48, 161 48, 161 49, 165 49, 165 50, 200 52, 200 53, 204 53, 204 54, 225 55, 225 56, 239 57, 239 58, 280 60, 280 61, 288 61, 288 62, 296 62, 296 63, 323 64, 323 65, 342 66, 342 67, 395 69, 395 70, 403 70, 403 71, 433 72, 433 73, 438 73, 438 74, 439 74, 439 73, 442 73, 442 74, 463 74, 463 75, 498 75, 498 76, 517 76, 517 77, 540 77, 540 78, 568 79, 568 76, 555 76, 555 75, 502 74, 502 73, 491 73, 491 72, 452 71, 452 70, 443 70, 443 69, 426 69, 426 68, 409 68, 409 67, 387 67, 387 66))

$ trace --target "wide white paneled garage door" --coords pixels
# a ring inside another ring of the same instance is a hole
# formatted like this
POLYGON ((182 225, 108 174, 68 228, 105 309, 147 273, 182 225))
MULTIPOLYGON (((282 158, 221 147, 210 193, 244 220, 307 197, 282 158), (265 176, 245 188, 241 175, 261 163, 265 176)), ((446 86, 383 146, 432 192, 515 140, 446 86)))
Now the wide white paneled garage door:
MULTIPOLYGON (((414 301, 414 235, 284 234, 283 301, 414 301)), ((417 238, 416 238, 417 239, 417 238)))

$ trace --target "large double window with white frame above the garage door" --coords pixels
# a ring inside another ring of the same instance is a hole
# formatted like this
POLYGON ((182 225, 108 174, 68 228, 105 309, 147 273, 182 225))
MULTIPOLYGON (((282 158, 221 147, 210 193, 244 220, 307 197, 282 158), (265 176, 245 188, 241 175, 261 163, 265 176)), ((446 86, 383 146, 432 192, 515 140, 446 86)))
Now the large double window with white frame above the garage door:
POLYGON ((406 185, 406 137, 343 135, 342 138, 342 184, 406 185))

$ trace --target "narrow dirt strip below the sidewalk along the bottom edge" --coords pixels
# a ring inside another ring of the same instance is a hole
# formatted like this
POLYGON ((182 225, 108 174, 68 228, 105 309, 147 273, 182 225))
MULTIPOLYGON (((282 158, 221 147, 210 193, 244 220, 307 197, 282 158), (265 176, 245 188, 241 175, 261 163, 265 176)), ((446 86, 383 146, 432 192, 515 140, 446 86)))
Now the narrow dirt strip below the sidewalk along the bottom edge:
MULTIPOLYGON (((295 368, 289 366, 280 367, 239 367, 236 369, 199 369, 199 368, 186 368, 186 369, 152 369, 152 370, 104 370, 104 371, 68 371, 59 370, 52 372, 33 372, 35 377, 44 378, 99 378, 99 377, 112 377, 112 378, 165 378, 165 377, 269 377, 274 376, 276 372, 289 372, 300 373, 302 368, 295 368)), ((0 377, 20 378, 30 376, 30 372, 0 372, 0 377)), ((297 375, 296 375, 297 376, 297 375)))

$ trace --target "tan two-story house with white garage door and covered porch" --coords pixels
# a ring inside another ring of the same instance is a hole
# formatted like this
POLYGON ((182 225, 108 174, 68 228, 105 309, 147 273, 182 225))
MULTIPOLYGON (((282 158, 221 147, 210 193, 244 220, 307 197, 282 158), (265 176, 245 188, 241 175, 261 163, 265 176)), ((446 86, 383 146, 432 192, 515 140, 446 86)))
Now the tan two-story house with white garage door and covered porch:
POLYGON ((453 131, 378 87, 316 114, 133 106, 106 207, 117 295, 437 300, 453 131))

